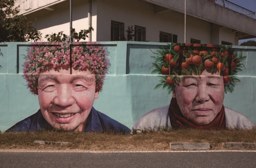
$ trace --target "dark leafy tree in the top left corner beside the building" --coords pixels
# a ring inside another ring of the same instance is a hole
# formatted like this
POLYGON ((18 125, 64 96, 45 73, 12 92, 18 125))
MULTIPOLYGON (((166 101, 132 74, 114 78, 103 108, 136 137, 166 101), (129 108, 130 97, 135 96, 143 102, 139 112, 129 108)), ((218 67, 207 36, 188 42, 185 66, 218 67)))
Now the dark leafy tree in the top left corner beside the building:
MULTIPOLYGON (((19 7, 14 7, 15 0, 0 0, 0 41, 27 42, 41 39, 37 31, 26 16, 18 15, 19 7)), ((29 9, 28 9, 29 10, 29 9)))

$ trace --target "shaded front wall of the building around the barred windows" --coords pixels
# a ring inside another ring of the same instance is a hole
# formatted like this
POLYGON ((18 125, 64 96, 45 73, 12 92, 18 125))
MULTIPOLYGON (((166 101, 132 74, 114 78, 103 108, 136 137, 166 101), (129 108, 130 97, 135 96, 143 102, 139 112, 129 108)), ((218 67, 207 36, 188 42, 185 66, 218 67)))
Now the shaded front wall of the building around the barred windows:
MULTIPOLYGON (((159 32, 178 35, 178 43, 184 42, 184 14, 178 12, 154 13, 154 5, 138 0, 98 0, 98 41, 110 41, 111 20, 127 26, 146 27, 146 41, 159 41, 159 32)), ((210 22, 187 16, 186 41, 199 39, 211 43, 210 22)))

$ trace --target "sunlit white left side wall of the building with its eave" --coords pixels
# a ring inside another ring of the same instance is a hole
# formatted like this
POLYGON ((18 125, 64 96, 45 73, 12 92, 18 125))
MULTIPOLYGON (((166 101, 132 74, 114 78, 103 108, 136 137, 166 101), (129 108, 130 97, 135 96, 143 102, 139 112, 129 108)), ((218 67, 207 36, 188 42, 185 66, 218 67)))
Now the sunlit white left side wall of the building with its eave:
MULTIPOLYGON (((58 33, 60 31, 64 31, 64 34, 70 35, 69 1, 56 4, 55 8, 55 11, 42 9, 27 15, 28 20, 33 20, 36 16, 34 24, 36 25, 36 29, 42 33, 42 37, 46 34, 58 33)), ((84 0, 73 1, 72 10, 72 24, 76 32, 82 29, 88 29, 88 2, 84 0)), ((92 3, 92 20, 95 20, 92 21, 92 27, 94 28, 92 40, 96 41, 97 4, 95 1, 92 3)), ((43 38, 42 41, 47 40, 43 38)))

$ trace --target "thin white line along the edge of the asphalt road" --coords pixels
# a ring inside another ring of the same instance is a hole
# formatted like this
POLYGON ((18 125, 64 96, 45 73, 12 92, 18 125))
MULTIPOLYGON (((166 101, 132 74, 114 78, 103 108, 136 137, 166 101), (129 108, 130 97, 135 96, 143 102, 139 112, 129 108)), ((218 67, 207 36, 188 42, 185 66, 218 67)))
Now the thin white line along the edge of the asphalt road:
POLYGON ((161 152, 256 152, 256 150, 180 150, 180 151, 65 151, 65 150, 0 150, 0 152, 60 152, 60 153, 161 153, 161 152))

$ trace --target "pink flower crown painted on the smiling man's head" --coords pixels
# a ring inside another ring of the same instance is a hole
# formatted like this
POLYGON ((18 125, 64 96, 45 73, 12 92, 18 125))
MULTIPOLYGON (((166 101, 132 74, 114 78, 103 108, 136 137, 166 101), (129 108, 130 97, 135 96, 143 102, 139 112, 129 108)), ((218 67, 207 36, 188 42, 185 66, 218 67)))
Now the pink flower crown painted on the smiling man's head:
MULTIPOLYGON (((102 90, 104 78, 108 70, 109 61, 106 48, 96 42, 72 43, 72 67, 78 70, 90 70, 96 75, 96 90, 102 90)), ((28 82, 30 92, 38 94, 38 78, 44 70, 70 67, 69 43, 33 43, 28 50, 24 63, 24 76, 28 82)))

